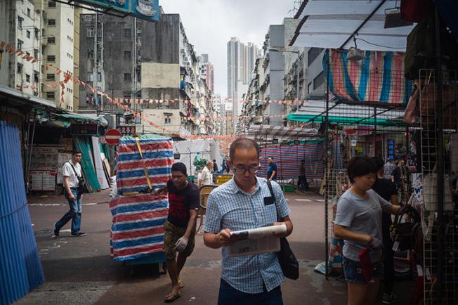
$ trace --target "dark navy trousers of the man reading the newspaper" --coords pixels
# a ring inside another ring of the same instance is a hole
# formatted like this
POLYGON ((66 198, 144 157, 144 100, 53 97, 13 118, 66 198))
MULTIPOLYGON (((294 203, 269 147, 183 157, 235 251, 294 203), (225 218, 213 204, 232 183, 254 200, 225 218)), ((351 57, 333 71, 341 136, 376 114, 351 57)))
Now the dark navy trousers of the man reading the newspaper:
POLYGON ((236 290, 221 279, 218 305, 283 305, 282 290, 280 286, 270 291, 264 287, 263 292, 251 294, 236 290))

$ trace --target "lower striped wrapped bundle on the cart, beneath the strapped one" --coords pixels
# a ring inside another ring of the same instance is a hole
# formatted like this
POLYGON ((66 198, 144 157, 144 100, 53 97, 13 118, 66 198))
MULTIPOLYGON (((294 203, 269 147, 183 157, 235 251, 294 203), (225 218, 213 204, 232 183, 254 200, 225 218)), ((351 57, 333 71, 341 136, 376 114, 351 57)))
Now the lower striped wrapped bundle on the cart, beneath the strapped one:
POLYGON ((119 196, 110 200, 112 259, 126 261, 162 251, 168 208, 166 194, 119 196))

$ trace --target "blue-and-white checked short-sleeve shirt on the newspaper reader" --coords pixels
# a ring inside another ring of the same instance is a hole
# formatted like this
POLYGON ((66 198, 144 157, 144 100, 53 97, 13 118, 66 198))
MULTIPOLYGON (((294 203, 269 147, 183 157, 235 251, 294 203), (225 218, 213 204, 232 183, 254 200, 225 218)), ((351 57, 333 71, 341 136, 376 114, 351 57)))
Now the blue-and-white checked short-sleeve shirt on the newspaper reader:
MULTIPOLYGON (((270 197, 266 179, 256 177, 252 194, 240 190, 234 179, 214 189, 209 195, 204 231, 219 233, 223 228, 231 231, 268 226, 280 217, 289 215, 289 207, 280 186, 272 181, 277 205, 264 205, 270 197)), ((221 278, 242 292, 256 294, 280 286, 284 277, 277 253, 229 257, 228 247, 223 247, 221 278)))

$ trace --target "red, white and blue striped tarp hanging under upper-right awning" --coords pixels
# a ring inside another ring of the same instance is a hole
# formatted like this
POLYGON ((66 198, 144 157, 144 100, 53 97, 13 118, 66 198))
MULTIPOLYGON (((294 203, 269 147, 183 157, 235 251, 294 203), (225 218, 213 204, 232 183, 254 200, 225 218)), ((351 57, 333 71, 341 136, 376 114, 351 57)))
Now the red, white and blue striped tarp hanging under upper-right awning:
POLYGON ((407 104, 412 81, 404 77, 404 53, 365 51, 362 60, 348 60, 348 51, 326 51, 323 69, 329 90, 342 102, 407 104))

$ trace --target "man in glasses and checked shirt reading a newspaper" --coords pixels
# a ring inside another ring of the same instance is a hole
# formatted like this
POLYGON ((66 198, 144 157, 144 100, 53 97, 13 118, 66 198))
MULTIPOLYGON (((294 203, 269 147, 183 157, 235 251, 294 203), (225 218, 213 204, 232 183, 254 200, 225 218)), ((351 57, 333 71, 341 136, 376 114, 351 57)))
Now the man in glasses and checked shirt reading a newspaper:
POLYGON ((234 178, 209 195, 204 227, 205 245, 214 249, 223 247, 218 305, 283 304, 280 285, 284 277, 277 253, 230 256, 228 246, 240 240, 240 237, 231 238, 233 231, 283 225, 286 230, 280 229, 275 236, 291 234, 289 207, 275 181, 272 181, 274 200, 267 180, 256 177, 259 171, 256 142, 247 138, 234 141, 230 145, 230 167, 234 178), (277 215, 281 222, 277 222, 277 215))

